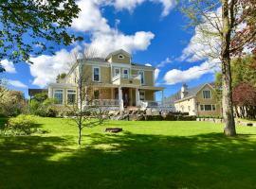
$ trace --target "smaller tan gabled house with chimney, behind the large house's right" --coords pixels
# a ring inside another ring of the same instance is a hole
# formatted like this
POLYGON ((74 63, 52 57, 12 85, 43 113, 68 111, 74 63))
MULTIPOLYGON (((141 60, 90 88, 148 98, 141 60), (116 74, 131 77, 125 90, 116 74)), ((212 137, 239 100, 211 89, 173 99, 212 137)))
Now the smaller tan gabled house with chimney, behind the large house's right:
POLYGON ((178 112, 189 112, 190 115, 218 116, 222 114, 222 110, 213 93, 214 86, 210 83, 191 89, 183 84, 181 90, 165 98, 164 103, 173 105, 178 112))

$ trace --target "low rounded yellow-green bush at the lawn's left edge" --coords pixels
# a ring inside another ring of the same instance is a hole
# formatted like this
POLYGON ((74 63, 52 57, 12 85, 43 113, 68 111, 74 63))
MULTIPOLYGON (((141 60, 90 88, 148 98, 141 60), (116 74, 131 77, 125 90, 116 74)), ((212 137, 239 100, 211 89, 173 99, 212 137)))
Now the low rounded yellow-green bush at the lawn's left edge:
POLYGON ((17 117, 9 118, 2 135, 30 135, 42 131, 36 128, 36 116, 20 114, 17 117))

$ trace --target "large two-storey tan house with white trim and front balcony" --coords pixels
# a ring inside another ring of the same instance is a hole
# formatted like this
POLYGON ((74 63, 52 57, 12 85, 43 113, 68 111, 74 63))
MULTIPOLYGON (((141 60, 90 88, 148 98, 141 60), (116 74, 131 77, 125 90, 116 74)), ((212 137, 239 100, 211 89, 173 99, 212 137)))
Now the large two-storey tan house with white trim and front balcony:
POLYGON ((155 68, 134 63, 126 51, 120 49, 105 59, 82 59, 79 62, 80 65, 75 64, 58 83, 48 85, 48 96, 55 98, 57 104, 76 102, 79 94, 77 76, 83 76, 90 81, 88 86, 85 85, 85 90, 90 87, 94 103, 115 110, 131 107, 163 108, 161 101, 155 101, 155 93, 163 94, 164 90, 163 87, 155 86, 155 68), (80 69, 80 66, 84 69, 80 69))

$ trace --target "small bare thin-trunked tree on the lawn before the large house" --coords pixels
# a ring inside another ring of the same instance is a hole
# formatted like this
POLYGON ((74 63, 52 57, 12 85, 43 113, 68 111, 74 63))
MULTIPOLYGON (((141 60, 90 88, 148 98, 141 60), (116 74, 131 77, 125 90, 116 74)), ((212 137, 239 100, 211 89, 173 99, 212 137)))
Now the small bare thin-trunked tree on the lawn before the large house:
MULTIPOLYGON (((73 52, 74 63, 70 64, 72 70, 73 82, 77 86, 77 99, 72 106, 67 108, 72 115, 71 120, 75 123, 79 130, 78 144, 82 144, 82 129, 92 128, 101 125, 104 121, 101 103, 97 103, 93 94, 93 82, 91 70, 84 65, 85 61, 99 58, 98 51, 95 49, 87 49, 83 54, 73 52)), ((70 76, 67 76, 70 77, 70 76)))

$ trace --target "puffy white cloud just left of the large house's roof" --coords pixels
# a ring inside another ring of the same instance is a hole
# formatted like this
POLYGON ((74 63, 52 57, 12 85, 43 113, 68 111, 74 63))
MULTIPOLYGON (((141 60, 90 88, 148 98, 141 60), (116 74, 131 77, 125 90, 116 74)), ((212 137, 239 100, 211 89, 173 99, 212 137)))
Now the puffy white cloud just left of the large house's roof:
MULTIPOLYGON (((72 51, 77 50, 74 48, 72 51)), ((59 74, 67 72, 70 63, 73 61, 70 52, 62 49, 53 56, 41 55, 36 58, 30 58, 33 64, 30 64, 30 74, 35 77, 32 84, 40 87, 46 87, 47 84, 56 81, 59 74)))

